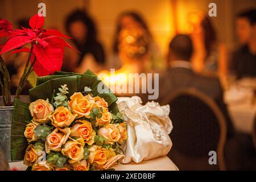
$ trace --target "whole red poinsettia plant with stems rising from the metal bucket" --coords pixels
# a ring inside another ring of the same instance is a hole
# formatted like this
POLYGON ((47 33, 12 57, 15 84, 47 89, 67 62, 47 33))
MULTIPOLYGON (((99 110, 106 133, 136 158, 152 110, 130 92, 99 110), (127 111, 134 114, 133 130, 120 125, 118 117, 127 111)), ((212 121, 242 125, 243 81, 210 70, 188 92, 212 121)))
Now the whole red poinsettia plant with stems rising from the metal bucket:
POLYGON ((0 75, 3 76, 3 78, 0 78, 0 86, 6 106, 13 103, 10 93, 10 75, 1 56, 3 53, 9 51, 13 51, 12 53, 29 52, 26 67, 14 97, 18 98, 24 82, 33 70, 38 76, 47 76, 55 71, 60 71, 63 63, 64 47, 77 51, 62 39, 71 39, 69 36, 61 34, 57 30, 46 30, 43 28, 43 24, 44 16, 38 14, 30 19, 29 25, 31 28, 22 27, 22 29, 14 30, 12 24, 6 19, 0 20, 0 38, 7 37, 6 42, 0 45, 0 75), (24 47, 25 44, 30 44, 30 48, 24 47))

